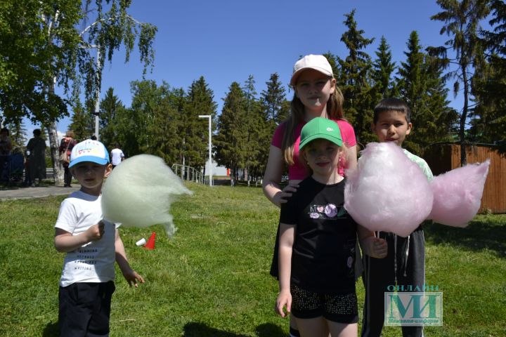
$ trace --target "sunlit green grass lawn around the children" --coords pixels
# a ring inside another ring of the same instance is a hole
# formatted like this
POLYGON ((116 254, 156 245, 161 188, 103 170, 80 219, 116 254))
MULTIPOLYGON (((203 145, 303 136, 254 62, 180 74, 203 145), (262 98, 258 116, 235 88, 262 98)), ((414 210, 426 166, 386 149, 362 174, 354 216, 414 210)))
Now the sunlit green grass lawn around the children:
MULTIPOLYGON (((146 283, 129 288, 117 269, 111 336, 287 336, 268 275, 278 209, 260 188, 187 185, 195 193, 172 207, 174 239, 159 225, 120 228, 146 283), (155 250, 135 245, 151 232, 155 250)), ((63 253, 53 225, 63 199, 0 202, 0 336, 58 336, 63 253)), ((428 225, 425 236, 427 284, 443 292, 443 326, 426 336, 506 336, 506 215, 478 216, 465 229, 428 225)), ((361 281, 357 292, 362 303, 361 281)))

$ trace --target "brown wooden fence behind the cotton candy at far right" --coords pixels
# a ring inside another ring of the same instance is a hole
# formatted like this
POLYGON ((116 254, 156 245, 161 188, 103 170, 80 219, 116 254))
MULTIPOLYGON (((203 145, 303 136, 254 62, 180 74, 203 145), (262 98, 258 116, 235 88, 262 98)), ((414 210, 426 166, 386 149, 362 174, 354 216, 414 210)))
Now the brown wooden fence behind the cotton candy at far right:
MULTIPOLYGON (((486 144, 469 144, 466 152, 467 164, 491 159, 479 213, 506 213, 506 154, 501 154, 494 145, 486 144)), ((424 159, 434 176, 456 169, 460 167, 460 145, 434 144, 424 159)))

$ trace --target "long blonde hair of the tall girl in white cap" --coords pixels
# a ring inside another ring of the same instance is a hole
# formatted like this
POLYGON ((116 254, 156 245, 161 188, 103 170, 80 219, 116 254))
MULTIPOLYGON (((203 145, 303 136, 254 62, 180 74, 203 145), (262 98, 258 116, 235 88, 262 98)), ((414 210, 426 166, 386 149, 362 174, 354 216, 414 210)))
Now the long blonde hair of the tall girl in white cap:
MULTIPOLYGON (((332 78, 331 78, 332 79, 332 78)), ((342 105, 344 97, 341 89, 335 86, 334 93, 330 94, 329 100, 327 101, 327 118, 328 119, 343 119, 344 112, 342 105)), ((291 166, 294 163, 293 152, 294 152, 294 130, 297 128, 302 121, 304 121, 304 104, 294 93, 292 103, 290 103, 290 116, 283 122, 285 123, 285 133, 283 134, 283 142, 281 143, 281 150, 283 150, 283 157, 287 165, 291 166)))

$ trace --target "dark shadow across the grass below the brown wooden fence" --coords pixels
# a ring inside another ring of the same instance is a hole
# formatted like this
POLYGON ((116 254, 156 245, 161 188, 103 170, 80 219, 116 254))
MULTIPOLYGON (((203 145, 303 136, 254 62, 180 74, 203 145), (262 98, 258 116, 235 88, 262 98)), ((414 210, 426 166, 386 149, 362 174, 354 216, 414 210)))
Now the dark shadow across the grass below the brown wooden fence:
POLYGON ((479 217, 465 228, 439 223, 424 224, 425 240, 432 244, 452 244, 471 251, 489 249, 500 258, 506 257, 506 223, 493 216, 479 217))

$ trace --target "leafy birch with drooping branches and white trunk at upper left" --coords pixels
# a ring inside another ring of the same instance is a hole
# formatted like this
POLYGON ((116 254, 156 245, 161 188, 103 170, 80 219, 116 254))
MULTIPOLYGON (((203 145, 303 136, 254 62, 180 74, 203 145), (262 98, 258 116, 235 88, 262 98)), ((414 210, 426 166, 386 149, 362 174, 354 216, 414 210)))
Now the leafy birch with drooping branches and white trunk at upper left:
POLYGON ((6 0, 0 4, 0 110, 7 121, 27 117, 47 126, 58 183, 63 181, 63 168, 55 160, 56 121, 68 116, 67 104, 79 99, 84 87, 84 107, 92 111, 104 60, 111 62, 119 46, 124 46, 127 62, 138 39, 144 73, 153 65, 157 28, 126 13, 130 5, 131 1, 123 0, 93 4, 91 0, 6 0), (82 27, 86 28, 81 31, 82 27), (55 93, 56 85, 63 88, 63 95, 55 93))

